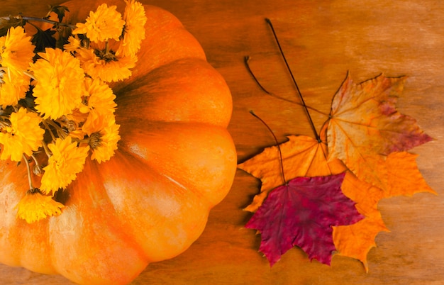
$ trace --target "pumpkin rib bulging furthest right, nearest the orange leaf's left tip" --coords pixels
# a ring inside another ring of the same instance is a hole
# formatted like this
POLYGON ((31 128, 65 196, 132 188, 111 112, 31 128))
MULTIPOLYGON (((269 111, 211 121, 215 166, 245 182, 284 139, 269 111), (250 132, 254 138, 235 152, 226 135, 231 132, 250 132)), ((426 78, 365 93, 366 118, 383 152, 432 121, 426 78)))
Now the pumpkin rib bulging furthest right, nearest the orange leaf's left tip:
POLYGON ((119 148, 139 156, 157 171, 174 173, 171 175, 180 184, 211 197, 212 205, 220 201, 218 189, 230 189, 228 182, 232 181, 224 177, 234 177, 235 147, 228 131, 220 126, 182 122, 131 124, 122 128, 119 148))

